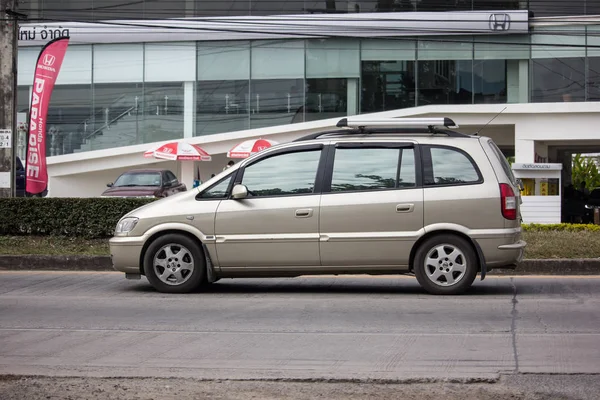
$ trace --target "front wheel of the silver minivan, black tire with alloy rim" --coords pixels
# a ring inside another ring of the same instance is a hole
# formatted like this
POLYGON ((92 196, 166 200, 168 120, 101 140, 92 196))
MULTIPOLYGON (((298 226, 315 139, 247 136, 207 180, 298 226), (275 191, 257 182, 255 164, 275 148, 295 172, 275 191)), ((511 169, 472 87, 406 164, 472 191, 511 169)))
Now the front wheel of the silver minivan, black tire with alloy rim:
POLYGON ((189 293, 204 281, 206 260, 202 248, 194 240, 169 233, 156 238, 148 246, 144 254, 144 273, 159 292, 189 293), (181 282, 178 283, 178 280, 181 282))

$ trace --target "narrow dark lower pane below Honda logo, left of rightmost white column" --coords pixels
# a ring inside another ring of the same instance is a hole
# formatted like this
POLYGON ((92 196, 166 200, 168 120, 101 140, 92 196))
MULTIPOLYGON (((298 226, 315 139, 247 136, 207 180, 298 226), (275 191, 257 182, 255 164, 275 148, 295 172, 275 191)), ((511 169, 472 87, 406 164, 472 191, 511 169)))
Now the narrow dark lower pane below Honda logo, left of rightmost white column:
POLYGON ((506 61, 475 60, 473 83, 475 104, 506 103, 506 61))

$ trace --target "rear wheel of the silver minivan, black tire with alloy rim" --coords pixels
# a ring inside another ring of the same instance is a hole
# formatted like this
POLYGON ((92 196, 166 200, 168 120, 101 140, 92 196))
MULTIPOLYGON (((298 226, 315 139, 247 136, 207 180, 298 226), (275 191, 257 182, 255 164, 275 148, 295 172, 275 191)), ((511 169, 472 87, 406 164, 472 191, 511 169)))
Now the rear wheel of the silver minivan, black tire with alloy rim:
POLYGON ((427 292, 457 295, 473 284, 479 261, 469 241, 444 234, 433 236, 419 246, 413 270, 417 281, 427 292))

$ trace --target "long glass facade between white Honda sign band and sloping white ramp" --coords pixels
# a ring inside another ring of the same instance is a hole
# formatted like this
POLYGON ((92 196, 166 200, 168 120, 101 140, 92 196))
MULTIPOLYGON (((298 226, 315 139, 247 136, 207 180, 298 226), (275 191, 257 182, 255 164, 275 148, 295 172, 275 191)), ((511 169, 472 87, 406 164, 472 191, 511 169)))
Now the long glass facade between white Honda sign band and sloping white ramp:
MULTIPOLYGON (((39 47, 19 49, 18 111, 39 47)), ((48 154, 441 104, 600 101, 600 25, 530 35, 71 45, 48 154)))

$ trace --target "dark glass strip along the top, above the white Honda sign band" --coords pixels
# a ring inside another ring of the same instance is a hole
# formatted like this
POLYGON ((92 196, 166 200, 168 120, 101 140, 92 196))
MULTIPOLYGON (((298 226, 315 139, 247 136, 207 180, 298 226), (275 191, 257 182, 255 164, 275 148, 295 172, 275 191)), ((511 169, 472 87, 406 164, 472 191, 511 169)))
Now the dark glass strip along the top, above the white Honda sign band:
POLYGON ((21 0, 30 19, 160 19, 282 14, 530 10, 535 17, 598 15, 598 0, 21 0))

